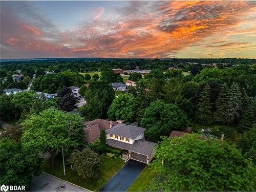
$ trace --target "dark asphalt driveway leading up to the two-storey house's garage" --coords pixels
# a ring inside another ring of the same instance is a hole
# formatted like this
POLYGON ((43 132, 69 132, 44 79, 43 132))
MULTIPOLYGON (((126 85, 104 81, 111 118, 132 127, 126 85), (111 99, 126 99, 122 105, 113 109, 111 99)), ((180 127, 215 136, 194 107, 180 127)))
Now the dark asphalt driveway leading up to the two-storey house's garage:
POLYGON ((144 163, 129 160, 100 191, 126 191, 145 166, 144 163))

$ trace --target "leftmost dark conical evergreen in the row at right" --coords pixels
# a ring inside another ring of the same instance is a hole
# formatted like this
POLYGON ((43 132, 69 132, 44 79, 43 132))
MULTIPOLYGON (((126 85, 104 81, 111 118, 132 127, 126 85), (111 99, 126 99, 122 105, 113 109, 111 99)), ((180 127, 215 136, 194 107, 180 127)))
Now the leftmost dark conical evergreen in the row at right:
POLYGON ((207 83, 200 95, 197 105, 196 117, 199 123, 209 125, 212 123, 212 103, 210 102, 210 86, 207 83))

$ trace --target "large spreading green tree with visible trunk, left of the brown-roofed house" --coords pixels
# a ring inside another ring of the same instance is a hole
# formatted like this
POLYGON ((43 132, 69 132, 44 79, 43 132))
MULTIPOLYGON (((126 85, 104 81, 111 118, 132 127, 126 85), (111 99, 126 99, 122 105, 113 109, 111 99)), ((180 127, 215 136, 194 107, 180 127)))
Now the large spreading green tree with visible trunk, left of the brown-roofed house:
POLYGON ((23 147, 36 154, 49 152, 52 156, 52 167, 54 157, 61 151, 61 146, 68 150, 79 147, 84 141, 83 119, 76 114, 53 108, 39 115, 32 115, 22 125, 23 147))

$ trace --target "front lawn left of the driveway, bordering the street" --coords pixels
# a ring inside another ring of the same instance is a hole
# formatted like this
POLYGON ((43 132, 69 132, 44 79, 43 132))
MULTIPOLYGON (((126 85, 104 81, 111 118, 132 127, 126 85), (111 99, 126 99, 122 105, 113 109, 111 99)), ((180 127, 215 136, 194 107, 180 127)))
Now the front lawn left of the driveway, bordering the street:
POLYGON ((55 168, 51 169, 51 158, 42 162, 42 170, 46 173, 54 175, 60 179, 69 181, 81 187, 99 191, 103 185, 117 172, 119 168, 124 164, 124 161, 120 158, 110 158, 108 156, 102 156, 102 165, 97 179, 84 179, 78 176, 76 171, 66 165, 66 176, 63 175, 63 164, 61 156, 55 158, 55 168))

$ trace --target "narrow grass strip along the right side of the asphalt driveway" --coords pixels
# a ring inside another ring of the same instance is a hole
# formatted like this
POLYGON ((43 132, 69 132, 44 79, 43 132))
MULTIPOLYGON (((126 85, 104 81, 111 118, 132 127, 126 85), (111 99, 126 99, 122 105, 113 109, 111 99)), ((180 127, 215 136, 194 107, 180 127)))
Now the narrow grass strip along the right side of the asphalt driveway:
POLYGON ((152 181, 156 175, 154 167, 147 165, 127 191, 144 191, 145 187, 150 184, 150 181, 152 181))

